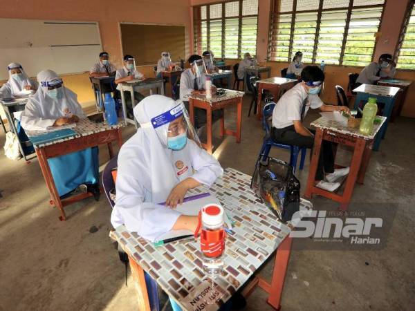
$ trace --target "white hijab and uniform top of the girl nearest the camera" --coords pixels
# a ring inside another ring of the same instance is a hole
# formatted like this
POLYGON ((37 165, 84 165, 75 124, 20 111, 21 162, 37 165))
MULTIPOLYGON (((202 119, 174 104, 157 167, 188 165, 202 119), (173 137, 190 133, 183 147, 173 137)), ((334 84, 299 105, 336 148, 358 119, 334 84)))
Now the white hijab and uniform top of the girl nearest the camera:
POLYGON ((181 151, 167 149, 169 123, 157 129, 151 118, 173 109, 178 103, 163 95, 151 95, 134 107, 140 129, 125 142, 118 155, 116 205, 111 214, 113 227, 124 224, 149 241, 170 231, 178 211, 158 205, 187 177, 204 185, 222 175, 219 162, 192 140, 181 151))

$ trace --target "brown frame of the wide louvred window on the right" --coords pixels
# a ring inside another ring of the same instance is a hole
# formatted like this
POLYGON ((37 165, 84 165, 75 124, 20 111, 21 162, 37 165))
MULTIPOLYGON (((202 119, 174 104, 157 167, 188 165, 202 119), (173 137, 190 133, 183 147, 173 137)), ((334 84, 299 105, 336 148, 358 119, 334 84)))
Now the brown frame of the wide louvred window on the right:
MULTIPOLYGON (((415 2, 415 0, 412 0, 415 2)), ((268 27, 268 49, 267 49, 267 55, 266 55, 266 59, 267 62, 277 62, 277 63, 284 63, 284 62, 291 62, 291 57, 293 55, 293 35, 294 35, 294 28, 295 28, 295 17, 297 15, 297 13, 310 13, 310 12, 315 12, 317 11, 317 24, 316 24, 316 32, 315 32, 315 38, 314 38, 314 49, 313 49, 313 56, 311 59, 311 64, 315 64, 316 61, 316 56, 317 56, 317 48, 318 48, 318 36, 320 34, 320 25, 321 25, 321 21, 322 21, 322 13, 323 12, 335 12, 335 11, 340 11, 340 10, 347 10, 347 17, 346 17, 346 23, 344 26, 344 34, 343 34, 343 39, 342 39, 342 46, 341 46, 341 50, 340 50, 340 58, 339 58, 339 64, 329 64, 330 66, 344 66, 344 67, 350 67, 350 66, 356 66, 356 67, 363 67, 363 66, 359 66, 359 65, 344 65, 343 64, 343 60, 344 60, 344 50, 346 49, 346 45, 347 45, 347 35, 349 34, 349 25, 350 25, 350 21, 351 21, 351 15, 353 12, 353 9, 365 9, 365 8, 380 8, 379 4, 374 4, 374 5, 369 5, 369 6, 353 6, 353 0, 349 0, 349 6, 346 7, 341 7, 341 8, 323 8, 323 4, 324 4, 324 0, 320 0, 319 1, 319 6, 317 9, 315 10, 302 10, 302 11, 297 11, 297 0, 293 0, 293 10, 288 11, 288 12, 279 12, 279 2, 280 0, 272 0, 271 1, 271 7, 270 7, 270 23, 269 23, 269 27, 268 27), (273 36, 275 36, 274 31, 278 30, 278 23, 276 21, 276 19, 279 17, 279 15, 291 15, 291 33, 290 33, 290 46, 289 46, 289 52, 288 52, 288 59, 286 61, 281 61, 281 60, 271 60, 270 59, 270 53, 271 50, 273 48, 275 40, 273 40, 273 36)), ((385 6, 386 6, 387 0, 385 0, 382 4, 382 12, 380 14, 380 21, 379 21, 379 26, 378 26, 378 31, 380 31, 380 28, 382 27, 382 21, 383 21, 383 15, 385 14, 385 6)), ((375 32, 376 33, 376 32, 375 32)), ((376 52, 376 46, 378 45, 378 37, 376 37, 375 39, 375 44, 374 44, 374 49, 371 53, 371 61, 374 61, 374 55, 376 52)))

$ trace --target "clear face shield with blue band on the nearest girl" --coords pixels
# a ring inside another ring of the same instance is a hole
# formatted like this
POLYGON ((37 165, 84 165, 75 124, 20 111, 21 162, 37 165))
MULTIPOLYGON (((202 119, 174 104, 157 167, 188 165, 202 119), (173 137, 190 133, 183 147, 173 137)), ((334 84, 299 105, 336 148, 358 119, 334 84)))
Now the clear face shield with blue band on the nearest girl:
POLYGON ((202 148, 201 141, 192 122, 190 122, 185 105, 181 100, 176 103, 177 106, 173 109, 151 119, 151 124, 156 130, 158 138, 161 142, 165 142, 168 149, 174 151, 183 149, 187 144, 187 140, 193 140, 202 148))

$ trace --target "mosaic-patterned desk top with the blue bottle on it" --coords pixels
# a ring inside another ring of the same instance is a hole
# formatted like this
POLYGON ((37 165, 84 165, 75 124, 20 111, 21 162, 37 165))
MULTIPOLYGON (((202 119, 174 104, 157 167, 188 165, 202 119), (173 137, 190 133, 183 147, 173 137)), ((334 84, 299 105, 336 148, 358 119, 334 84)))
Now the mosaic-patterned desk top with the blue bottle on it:
MULTIPOLYGON (((120 127, 123 127, 124 123, 120 122, 116 125, 108 125, 104 122, 92 122, 88 118, 82 118, 79 122, 77 122, 76 126, 72 128, 73 131, 75 131, 75 135, 68 137, 68 138, 59 138, 57 140, 54 140, 53 142, 46 142, 44 144, 38 144, 35 145, 36 148, 42 148, 46 147, 50 144, 57 144, 58 142, 64 142, 66 140, 73 140, 74 138, 78 138, 81 136, 91 135, 94 133, 99 133, 102 131, 108 131, 110 129, 119 129, 120 127)), ((46 133, 45 131, 26 131, 26 134, 28 137, 42 135, 46 133)))

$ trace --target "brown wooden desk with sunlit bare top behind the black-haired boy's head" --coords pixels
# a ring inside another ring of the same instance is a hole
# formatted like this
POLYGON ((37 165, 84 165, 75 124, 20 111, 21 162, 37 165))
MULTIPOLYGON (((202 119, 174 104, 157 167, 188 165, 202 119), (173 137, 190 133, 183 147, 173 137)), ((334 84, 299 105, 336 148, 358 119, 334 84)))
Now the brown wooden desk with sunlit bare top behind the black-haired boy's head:
POLYGON ((297 79, 287 79, 282 77, 271 77, 268 79, 261 79, 257 81, 258 99, 257 99, 257 117, 258 120, 262 120, 262 91, 268 90, 274 95, 274 102, 278 102, 279 97, 286 91, 295 86, 298 82, 297 79))

